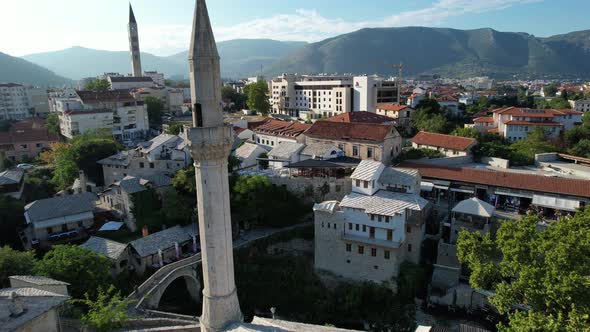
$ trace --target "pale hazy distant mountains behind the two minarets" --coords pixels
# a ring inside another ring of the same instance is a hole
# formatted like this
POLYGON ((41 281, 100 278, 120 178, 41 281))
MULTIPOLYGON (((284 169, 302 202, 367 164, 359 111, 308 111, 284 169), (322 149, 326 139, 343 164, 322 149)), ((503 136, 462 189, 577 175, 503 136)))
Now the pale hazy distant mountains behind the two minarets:
MULTIPOLYGON (((305 43, 274 40, 230 40, 218 43, 223 77, 238 78, 260 71, 305 43)), ((130 71, 129 52, 101 51, 72 47, 57 52, 24 56, 33 63, 47 67, 60 75, 79 80, 105 72, 126 74, 130 71)), ((167 77, 188 76, 188 51, 168 57, 142 53, 144 71, 157 70, 167 77)))

